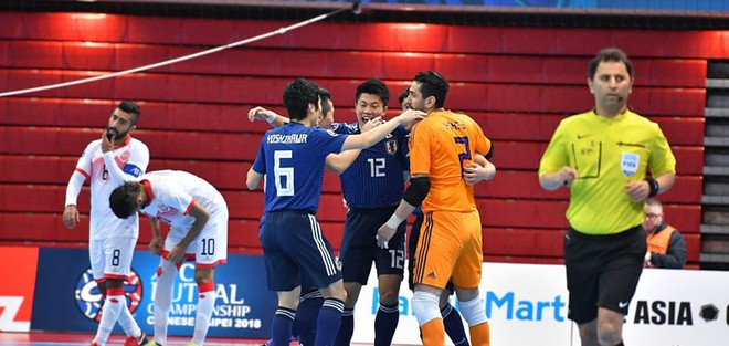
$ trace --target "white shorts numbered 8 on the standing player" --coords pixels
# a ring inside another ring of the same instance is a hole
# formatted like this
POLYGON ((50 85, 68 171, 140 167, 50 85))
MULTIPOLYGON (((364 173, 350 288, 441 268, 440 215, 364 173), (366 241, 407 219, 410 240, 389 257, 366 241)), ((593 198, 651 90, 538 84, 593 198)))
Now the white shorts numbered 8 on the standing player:
POLYGON ((131 273, 131 258, 137 238, 112 237, 88 242, 88 258, 94 280, 127 281, 131 273))

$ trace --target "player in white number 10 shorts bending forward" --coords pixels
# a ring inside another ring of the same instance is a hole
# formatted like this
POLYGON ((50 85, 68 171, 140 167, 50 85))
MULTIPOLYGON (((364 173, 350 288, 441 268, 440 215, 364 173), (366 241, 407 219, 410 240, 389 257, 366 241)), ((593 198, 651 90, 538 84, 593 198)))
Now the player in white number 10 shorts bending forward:
POLYGON ((228 205, 208 181, 180 170, 159 170, 116 188, 109 197, 119 218, 138 211, 152 220, 152 253, 161 254, 155 291, 155 339, 147 345, 167 344, 168 313, 172 284, 182 261, 194 260, 198 307, 192 342, 202 345, 215 306, 214 269, 228 259, 228 205), (170 224, 163 241, 159 221, 170 224))

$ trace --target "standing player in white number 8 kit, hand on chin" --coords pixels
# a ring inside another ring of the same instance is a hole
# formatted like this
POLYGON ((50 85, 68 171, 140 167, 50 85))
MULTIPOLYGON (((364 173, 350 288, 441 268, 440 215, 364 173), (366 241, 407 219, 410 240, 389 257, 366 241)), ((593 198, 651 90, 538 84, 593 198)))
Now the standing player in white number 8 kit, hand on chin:
POLYGON ((81 155, 66 188, 63 222, 73 229, 80 221, 78 193, 84 181, 91 179, 88 252, 94 280, 105 296, 104 313, 92 345, 104 346, 117 319, 127 334, 125 346, 147 342, 145 333, 131 317, 124 294, 124 282, 131 271, 131 256, 139 237, 139 219, 118 219, 108 203, 114 188, 144 174, 149 164, 147 146, 131 138, 139 115, 139 107, 134 103, 119 103, 102 138, 88 144, 81 155))

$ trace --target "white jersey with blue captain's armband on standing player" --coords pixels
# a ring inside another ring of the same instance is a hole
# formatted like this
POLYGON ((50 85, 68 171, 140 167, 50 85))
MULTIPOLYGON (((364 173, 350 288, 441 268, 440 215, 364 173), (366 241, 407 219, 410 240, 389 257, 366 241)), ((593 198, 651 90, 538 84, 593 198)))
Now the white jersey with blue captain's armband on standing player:
MULTIPOLYGON (((117 147, 114 147, 114 161, 126 175, 133 178, 145 172, 149 165, 149 149, 131 136, 117 147)), ((127 219, 117 218, 109 207, 109 195, 122 181, 113 181, 102 153, 102 140, 88 144, 81 155, 76 171, 91 178, 91 216, 89 240, 106 239, 109 237, 139 237, 139 218, 134 214, 127 219)), ((131 180, 131 179, 129 179, 131 180)))

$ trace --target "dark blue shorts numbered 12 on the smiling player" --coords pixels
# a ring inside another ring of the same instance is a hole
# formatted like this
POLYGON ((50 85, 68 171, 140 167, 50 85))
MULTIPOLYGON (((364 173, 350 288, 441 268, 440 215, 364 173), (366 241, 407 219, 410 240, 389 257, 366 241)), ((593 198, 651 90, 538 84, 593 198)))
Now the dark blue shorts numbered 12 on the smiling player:
POLYGON ((398 231, 388 242, 388 249, 377 245, 377 230, 388 222, 397 207, 380 209, 350 209, 345 221, 345 235, 341 239, 339 262, 341 263, 345 282, 359 282, 367 284, 372 268, 377 274, 404 273, 405 264, 405 233, 408 222, 403 221, 398 231))

